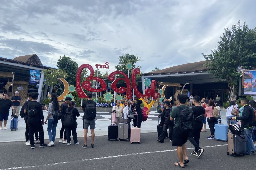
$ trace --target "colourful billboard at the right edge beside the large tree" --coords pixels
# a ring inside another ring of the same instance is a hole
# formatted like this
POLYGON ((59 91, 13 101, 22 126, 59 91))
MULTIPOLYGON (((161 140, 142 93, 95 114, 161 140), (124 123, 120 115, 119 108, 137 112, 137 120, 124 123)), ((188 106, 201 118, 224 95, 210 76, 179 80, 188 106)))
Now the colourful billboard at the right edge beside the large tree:
POLYGON ((243 70, 243 95, 256 96, 256 70, 243 70))

